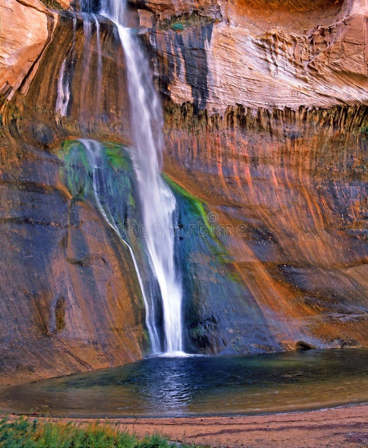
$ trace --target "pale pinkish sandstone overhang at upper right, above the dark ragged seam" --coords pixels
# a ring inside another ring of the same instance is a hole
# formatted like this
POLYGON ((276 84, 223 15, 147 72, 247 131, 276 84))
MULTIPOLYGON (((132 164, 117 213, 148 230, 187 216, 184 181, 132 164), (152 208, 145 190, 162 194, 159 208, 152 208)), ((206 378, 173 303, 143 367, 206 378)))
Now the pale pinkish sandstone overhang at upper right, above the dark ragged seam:
POLYGON ((213 2, 154 33, 161 84, 221 115, 367 101, 366 16, 365 1, 213 2))

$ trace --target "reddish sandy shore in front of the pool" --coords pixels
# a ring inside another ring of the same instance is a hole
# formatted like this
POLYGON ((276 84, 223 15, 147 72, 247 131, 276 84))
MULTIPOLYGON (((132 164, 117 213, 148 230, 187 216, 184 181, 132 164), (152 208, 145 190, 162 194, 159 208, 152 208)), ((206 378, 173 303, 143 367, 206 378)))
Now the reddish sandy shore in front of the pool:
MULTIPOLYGON (((55 419, 56 421, 60 419, 55 419)), ((94 419, 68 419, 87 423, 94 419)), ((213 447, 367 447, 368 405, 247 417, 108 419, 138 436, 160 433, 213 447)))

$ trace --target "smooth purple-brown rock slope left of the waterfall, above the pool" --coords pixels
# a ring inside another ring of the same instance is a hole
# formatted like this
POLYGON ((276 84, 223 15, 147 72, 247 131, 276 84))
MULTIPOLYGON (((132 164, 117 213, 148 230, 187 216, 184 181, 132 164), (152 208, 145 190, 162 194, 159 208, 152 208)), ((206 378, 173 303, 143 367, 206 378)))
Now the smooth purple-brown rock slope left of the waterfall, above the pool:
POLYGON ((63 185, 58 157, 29 145, 1 156, 1 382, 140 358, 144 305, 127 249, 63 185))

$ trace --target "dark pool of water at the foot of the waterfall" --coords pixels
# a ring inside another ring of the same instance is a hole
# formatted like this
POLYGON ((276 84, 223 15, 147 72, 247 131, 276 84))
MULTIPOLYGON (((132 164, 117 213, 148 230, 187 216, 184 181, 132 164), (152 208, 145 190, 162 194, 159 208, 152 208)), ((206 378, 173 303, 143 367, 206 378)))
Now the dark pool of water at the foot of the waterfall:
POLYGON ((69 417, 183 417, 368 402, 368 349, 154 357, 0 390, 0 409, 69 417))

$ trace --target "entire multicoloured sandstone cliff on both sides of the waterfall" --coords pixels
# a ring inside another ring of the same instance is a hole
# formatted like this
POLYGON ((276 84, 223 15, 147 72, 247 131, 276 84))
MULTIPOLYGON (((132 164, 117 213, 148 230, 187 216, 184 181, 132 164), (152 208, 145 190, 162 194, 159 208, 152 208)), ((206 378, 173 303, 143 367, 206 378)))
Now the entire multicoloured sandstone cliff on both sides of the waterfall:
MULTIPOLYGON (((82 162, 71 181, 61 157, 70 138, 129 143, 113 24, 1 1, 0 382, 138 359, 130 255, 83 193, 82 162)), ((187 349, 367 346, 366 2, 129 12, 164 104, 187 349)))

